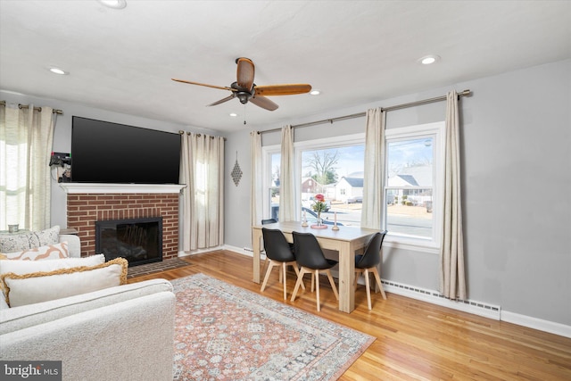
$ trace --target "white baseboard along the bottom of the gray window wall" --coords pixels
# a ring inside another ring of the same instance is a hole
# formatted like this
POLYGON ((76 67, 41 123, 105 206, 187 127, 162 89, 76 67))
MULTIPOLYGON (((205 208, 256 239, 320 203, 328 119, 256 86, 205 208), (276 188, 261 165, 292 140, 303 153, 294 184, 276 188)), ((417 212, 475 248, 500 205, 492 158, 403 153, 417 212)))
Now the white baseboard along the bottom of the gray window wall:
MULTIPOLYGON (((236 247, 230 245, 224 245, 223 249, 229 250, 234 253, 243 254, 249 257, 253 257, 253 252, 251 248, 236 247)), ((266 258, 265 255, 261 255, 261 258, 266 258)), ((335 271, 333 271, 334 277, 337 276, 335 271)), ((437 291, 419 288, 416 286, 409 286, 405 284, 400 284, 392 282, 390 280, 381 279, 383 282, 383 287, 386 292, 399 294, 402 296, 407 296, 412 299, 417 299, 423 302, 429 302, 443 307, 448 307, 453 310, 464 311, 468 313, 473 313, 478 316, 483 316, 484 318, 502 320, 508 323, 517 324, 518 326, 528 327, 537 329, 543 332, 548 332, 554 335, 561 335, 564 337, 571 338, 571 326, 565 324, 556 323, 549 320, 532 318, 526 315, 520 315, 514 312, 503 311, 500 306, 492 305, 484 302, 476 301, 451 301, 444 298, 437 291)), ((360 279, 359 283, 362 283, 360 279)))

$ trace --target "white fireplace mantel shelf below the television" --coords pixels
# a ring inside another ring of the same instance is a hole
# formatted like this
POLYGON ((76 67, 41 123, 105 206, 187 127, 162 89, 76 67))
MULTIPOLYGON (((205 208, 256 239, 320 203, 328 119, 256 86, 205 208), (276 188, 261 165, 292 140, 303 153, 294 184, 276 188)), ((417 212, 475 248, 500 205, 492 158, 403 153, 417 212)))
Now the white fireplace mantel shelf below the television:
POLYGON ((98 184, 60 183, 66 194, 176 194, 184 184, 98 184))

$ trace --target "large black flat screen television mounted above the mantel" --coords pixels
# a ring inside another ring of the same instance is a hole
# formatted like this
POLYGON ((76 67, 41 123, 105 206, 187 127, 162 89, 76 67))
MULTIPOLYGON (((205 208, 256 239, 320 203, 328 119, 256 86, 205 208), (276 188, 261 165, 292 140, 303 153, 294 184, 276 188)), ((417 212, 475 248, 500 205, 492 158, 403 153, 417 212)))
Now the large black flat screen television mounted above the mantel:
POLYGON ((180 136, 74 116, 71 182, 178 184, 180 136))

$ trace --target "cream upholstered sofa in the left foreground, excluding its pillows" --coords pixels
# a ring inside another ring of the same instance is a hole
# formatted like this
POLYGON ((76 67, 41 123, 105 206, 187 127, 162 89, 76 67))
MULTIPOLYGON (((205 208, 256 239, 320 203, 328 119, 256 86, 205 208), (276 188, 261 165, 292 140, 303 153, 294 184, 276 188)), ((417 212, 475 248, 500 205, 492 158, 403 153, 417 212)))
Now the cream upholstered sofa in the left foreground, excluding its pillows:
POLYGON ((0 360, 62 360, 63 380, 172 380, 174 317, 165 279, 3 309, 0 360))

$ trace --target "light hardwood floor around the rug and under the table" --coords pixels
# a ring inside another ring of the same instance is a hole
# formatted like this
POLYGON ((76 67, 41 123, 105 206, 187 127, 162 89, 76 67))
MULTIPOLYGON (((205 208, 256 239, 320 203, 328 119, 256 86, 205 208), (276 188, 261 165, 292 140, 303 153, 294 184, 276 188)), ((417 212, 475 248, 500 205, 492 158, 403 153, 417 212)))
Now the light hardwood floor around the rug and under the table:
POLYGON ((250 257, 216 251, 184 259, 192 266, 129 282, 203 273, 377 337, 341 380, 571 380, 571 339, 566 337, 390 293, 385 301, 373 294, 373 310, 368 311, 364 286, 357 289, 355 311, 347 314, 337 311, 325 277, 320 282, 318 313, 310 287, 289 302, 293 270, 287 275, 288 300, 284 301, 276 269, 260 293, 261 285, 252 282, 250 257))

